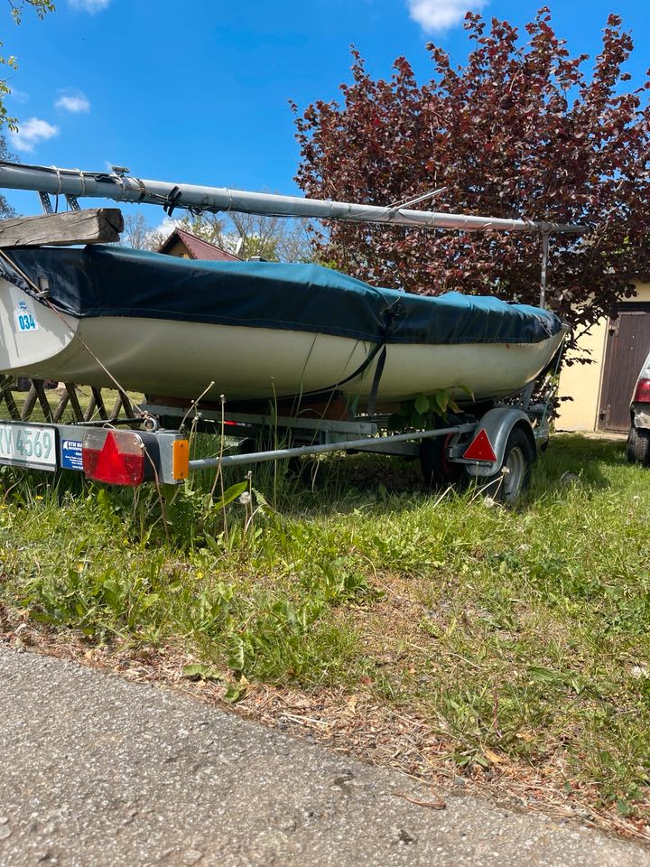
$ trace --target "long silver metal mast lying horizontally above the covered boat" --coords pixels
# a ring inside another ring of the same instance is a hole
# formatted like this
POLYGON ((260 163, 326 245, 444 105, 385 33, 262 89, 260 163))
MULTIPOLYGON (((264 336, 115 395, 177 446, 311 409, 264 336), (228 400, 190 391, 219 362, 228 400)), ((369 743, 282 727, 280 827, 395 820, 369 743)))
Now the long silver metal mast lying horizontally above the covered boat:
MULTIPOLYGON (((42 199, 46 195, 65 195, 75 198, 113 199, 135 204, 161 205, 169 214, 176 208, 191 211, 208 210, 214 213, 235 210, 247 214, 268 214, 276 217, 342 219, 349 222, 455 228, 464 231, 499 230, 544 234, 554 232, 580 234, 586 231, 583 226, 564 223, 435 213, 427 210, 410 210, 399 204, 382 207, 347 201, 303 199, 300 196, 229 190, 226 187, 146 181, 128 176, 126 170, 121 167, 116 167, 114 172, 82 172, 79 169, 60 169, 56 166, 0 162, 0 188, 37 191, 41 193, 42 199)), ((415 201, 417 199, 412 200, 415 201)))

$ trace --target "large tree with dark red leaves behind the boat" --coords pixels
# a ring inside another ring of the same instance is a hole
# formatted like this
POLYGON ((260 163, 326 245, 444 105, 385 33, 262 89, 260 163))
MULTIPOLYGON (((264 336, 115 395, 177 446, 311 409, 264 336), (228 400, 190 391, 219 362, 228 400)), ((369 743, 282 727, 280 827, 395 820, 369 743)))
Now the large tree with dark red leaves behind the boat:
MULTIPOLYGON (((297 181, 308 196, 381 205, 443 187, 431 210, 586 224, 581 238, 552 237, 547 298, 582 331, 650 274, 650 79, 626 92, 633 43, 617 15, 589 75, 546 7, 526 42, 478 14, 465 27, 475 47, 464 66, 430 44, 430 81, 418 84, 404 58, 389 81, 374 80, 353 51, 342 103, 302 115, 293 106, 297 181)), ((373 284, 539 300, 535 234, 338 222, 319 246, 322 260, 373 284)))

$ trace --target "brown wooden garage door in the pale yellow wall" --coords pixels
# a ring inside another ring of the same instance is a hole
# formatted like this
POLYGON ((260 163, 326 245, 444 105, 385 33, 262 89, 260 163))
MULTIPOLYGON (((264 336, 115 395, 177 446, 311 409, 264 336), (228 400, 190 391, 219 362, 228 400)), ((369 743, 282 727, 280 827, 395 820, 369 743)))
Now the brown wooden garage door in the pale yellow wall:
POLYGON ((623 304, 609 320, 600 389, 599 430, 627 431, 629 402, 641 365, 650 352, 650 304, 623 304))

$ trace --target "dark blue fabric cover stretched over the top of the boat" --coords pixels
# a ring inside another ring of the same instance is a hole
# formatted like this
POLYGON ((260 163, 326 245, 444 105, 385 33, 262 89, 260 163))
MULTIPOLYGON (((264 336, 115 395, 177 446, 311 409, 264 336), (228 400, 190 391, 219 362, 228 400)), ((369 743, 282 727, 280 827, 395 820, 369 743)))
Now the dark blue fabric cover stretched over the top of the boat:
POLYGON ((214 322, 375 343, 537 343, 562 330, 537 307, 378 289, 317 265, 202 262, 103 245, 5 252, 33 283, 46 277, 51 303, 79 318, 214 322))

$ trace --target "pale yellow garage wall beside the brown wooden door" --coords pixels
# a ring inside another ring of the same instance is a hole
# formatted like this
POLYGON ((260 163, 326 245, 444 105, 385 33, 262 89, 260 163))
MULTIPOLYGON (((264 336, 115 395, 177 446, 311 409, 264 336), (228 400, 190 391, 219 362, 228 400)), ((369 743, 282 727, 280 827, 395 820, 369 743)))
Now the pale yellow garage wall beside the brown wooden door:
MULTIPOLYGON (((636 284, 636 297, 628 301, 650 302, 650 284, 636 284)), ((608 320, 602 319, 581 338, 580 350, 590 352, 593 364, 564 366, 560 377, 560 396, 569 395, 560 408, 555 427, 559 431, 595 431, 598 429, 600 383, 607 339, 608 320)))

